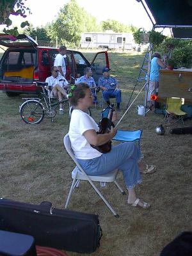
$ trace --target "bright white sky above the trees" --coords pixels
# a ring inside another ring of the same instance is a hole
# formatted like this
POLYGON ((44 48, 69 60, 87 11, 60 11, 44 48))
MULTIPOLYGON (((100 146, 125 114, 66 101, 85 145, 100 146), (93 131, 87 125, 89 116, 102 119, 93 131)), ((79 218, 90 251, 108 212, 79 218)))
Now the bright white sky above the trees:
MULTIPOLYGON (((127 25, 134 25, 138 28, 152 29, 152 22, 147 16, 141 3, 136 0, 76 0, 77 4, 97 19, 118 20, 127 25)), ((13 24, 20 24, 28 20, 33 26, 44 26, 47 22, 52 22, 56 18, 60 8, 68 0, 47 1, 47 0, 27 0, 26 6, 31 9, 32 14, 26 19, 13 17, 13 24)))

